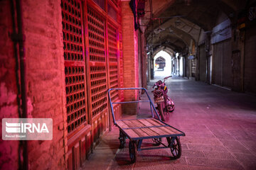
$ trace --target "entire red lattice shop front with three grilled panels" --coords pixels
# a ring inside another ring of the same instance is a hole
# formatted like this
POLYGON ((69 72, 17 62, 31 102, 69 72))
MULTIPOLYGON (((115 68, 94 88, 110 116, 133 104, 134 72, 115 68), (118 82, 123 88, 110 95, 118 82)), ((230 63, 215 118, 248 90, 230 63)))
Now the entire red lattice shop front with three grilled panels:
MULTIPOLYGON (((123 84, 120 6, 102 2, 61 1, 68 169, 79 169, 110 129, 107 89, 123 84)), ((112 91, 112 100, 122 96, 112 91)), ((119 118, 121 107, 115 105, 114 111, 119 118)))

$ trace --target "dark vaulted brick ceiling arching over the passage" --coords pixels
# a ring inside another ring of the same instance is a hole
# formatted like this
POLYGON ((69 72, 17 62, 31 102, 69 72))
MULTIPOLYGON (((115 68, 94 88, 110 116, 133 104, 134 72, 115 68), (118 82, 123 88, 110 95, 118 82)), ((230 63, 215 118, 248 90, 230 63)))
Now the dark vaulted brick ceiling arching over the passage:
POLYGON ((144 1, 147 19, 140 20, 147 45, 154 50, 164 46, 176 52, 188 49, 191 40, 198 43, 201 31, 212 30, 220 13, 232 21, 235 11, 246 4, 239 0, 152 0, 150 21, 149 2, 144 1))

